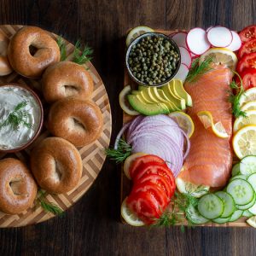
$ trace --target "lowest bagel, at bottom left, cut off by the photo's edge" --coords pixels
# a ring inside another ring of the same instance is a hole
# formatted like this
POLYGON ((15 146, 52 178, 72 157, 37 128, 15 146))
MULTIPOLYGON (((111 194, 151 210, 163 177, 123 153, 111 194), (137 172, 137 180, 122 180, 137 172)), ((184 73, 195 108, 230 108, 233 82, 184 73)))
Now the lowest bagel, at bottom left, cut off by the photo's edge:
POLYGON ((38 191, 27 167, 14 158, 0 160, 0 210, 19 214, 32 207, 38 191))

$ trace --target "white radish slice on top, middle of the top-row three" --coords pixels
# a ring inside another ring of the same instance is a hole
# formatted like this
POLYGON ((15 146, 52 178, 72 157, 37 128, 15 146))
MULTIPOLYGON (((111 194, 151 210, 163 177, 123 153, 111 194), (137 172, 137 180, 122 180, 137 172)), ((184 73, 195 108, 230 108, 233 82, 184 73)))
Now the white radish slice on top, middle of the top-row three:
POLYGON ((224 26, 213 26, 207 32, 208 41, 214 47, 228 47, 233 39, 230 30, 224 26))

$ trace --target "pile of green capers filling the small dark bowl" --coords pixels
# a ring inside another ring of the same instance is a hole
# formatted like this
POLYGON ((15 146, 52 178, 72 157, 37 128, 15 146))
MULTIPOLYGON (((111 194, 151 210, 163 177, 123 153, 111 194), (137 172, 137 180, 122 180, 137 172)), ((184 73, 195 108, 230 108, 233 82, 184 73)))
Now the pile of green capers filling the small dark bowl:
POLYGON ((128 57, 131 73, 141 82, 160 84, 177 69, 179 55, 166 38, 147 36, 132 45, 128 57))

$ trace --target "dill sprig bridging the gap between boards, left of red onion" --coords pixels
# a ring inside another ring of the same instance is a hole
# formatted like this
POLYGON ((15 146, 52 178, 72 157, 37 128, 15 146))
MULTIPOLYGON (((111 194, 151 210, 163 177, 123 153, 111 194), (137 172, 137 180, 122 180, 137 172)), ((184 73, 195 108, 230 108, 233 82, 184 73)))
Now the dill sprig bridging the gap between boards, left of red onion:
POLYGON ((131 145, 126 143, 125 140, 119 139, 118 148, 105 148, 105 154, 109 159, 115 160, 119 164, 131 155, 131 145))

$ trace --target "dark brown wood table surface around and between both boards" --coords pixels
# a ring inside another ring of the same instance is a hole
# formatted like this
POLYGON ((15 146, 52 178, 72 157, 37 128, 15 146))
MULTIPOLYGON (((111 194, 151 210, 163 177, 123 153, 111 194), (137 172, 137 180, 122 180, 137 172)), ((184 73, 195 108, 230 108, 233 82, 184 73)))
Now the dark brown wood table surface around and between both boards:
MULTIPOLYGON (((93 64, 108 90, 112 142, 122 125, 119 91, 124 35, 133 26, 234 30, 256 22, 256 3, 218 0, 1 0, 1 24, 41 26, 78 38, 94 50, 93 64)), ((119 222, 119 166, 107 160, 96 182, 63 218, 0 230, 0 255, 256 255, 252 228, 133 228, 119 222)))

